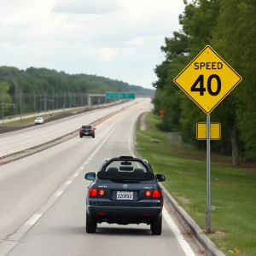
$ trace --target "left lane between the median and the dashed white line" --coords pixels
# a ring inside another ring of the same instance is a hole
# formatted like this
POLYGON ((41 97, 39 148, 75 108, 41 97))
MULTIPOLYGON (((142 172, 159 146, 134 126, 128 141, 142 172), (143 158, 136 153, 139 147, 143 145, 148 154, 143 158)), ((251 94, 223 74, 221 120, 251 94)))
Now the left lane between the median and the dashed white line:
POLYGON ((5 239, 26 222, 62 181, 79 169, 84 158, 108 136, 122 115, 124 113, 119 113, 96 126, 95 138, 74 137, 38 154, 0 166, 0 239, 5 239))

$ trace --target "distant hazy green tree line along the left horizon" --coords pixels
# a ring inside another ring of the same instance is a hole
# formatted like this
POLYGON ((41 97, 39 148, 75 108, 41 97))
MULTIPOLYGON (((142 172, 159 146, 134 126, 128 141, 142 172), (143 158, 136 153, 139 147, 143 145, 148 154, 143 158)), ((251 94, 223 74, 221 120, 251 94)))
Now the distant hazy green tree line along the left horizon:
MULTIPOLYGON (((155 90, 84 73, 71 75, 47 68, 0 67, 0 119, 19 113, 82 107, 88 104, 88 94, 107 91, 154 96, 155 90)), ((91 99, 92 105, 106 102, 111 100, 91 99)))

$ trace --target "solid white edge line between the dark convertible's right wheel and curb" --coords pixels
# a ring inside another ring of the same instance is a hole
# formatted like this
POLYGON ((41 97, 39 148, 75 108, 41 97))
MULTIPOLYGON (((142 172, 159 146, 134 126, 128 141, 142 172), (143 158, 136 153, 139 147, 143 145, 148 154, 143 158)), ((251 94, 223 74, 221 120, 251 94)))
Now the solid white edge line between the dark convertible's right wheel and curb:
POLYGON ((179 242, 180 246, 183 248, 184 253, 186 253, 187 256, 195 256, 195 253, 193 252, 191 247, 189 247, 189 243, 185 240, 184 236, 178 229, 177 224, 174 223, 171 216, 168 214, 168 212, 166 212, 165 207, 163 208, 163 215, 166 218, 167 224, 169 225, 172 232, 176 236, 177 241, 179 242))

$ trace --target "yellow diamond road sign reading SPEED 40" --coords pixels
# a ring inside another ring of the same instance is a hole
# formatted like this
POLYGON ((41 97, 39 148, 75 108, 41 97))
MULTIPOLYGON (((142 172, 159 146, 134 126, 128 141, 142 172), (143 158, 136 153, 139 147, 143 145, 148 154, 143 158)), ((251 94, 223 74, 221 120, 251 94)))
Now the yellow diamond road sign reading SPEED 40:
POLYGON ((209 114, 241 82, 241 76, 207 45, 173 81, 209 114))

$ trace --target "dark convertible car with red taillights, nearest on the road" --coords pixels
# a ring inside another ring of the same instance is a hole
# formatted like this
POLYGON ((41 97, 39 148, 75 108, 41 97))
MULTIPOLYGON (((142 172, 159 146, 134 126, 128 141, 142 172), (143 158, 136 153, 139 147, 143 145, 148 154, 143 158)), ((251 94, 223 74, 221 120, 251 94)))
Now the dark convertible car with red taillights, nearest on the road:
POLYGON ((161 235, 163 195, 148 160, 120 156, 103 160, 99 172, 88 172, 92 181, 86 198, 86 232, 97 224, 150 224, 152 235, 161 235))

